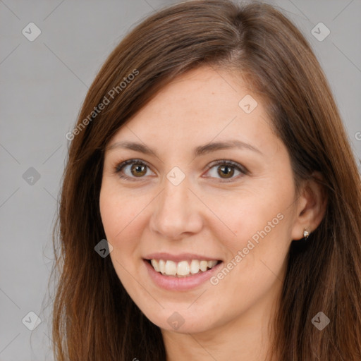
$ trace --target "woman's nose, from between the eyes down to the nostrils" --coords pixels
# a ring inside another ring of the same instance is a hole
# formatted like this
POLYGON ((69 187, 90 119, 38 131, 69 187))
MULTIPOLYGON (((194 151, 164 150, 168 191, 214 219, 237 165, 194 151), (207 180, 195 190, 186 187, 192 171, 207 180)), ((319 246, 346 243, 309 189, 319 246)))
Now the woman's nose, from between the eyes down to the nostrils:
POLYGON ((163 238, 177 240, 202 229, 201 204, 188 189, 186 179, 179 185, 165 179, 164 190, 154 202, 149 226, 163 238))

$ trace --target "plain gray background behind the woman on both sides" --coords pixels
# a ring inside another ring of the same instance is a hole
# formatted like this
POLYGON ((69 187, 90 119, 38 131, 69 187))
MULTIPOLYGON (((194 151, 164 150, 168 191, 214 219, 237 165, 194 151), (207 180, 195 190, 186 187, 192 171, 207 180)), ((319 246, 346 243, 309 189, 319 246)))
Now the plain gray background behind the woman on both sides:
MULTIPOLYGON (((94 76, 128 29, 176 2, 0 0, 1 361, 53 360, 44 297, 65 135, 94 76), (30 22, 41 30, 33 42, 22 34, 30 22), (24 179, 32 176, 30 167, 40 176, 32 184, 24 179), (30 311, 42 319, 34 331, 22 322, 30 311)), ((282 8, 312 44, 360 159, 361 0, 267 2, 282 8), (322 42, 311 33, 319 22, 331 30, 322 42)))

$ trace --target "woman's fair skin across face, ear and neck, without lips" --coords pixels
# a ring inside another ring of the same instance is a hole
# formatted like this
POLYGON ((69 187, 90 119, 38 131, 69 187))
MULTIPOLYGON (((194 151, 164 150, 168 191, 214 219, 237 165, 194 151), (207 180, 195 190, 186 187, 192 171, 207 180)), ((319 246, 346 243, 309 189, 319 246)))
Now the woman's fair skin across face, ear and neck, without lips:
POLYGON ((296 194, 287 149, 269 124, 261 99, 239 78, 204 66, 164 87, 109 142, 99 205, 111 261, 130 297, 161 328, 169 361, 266 360, 290 242, 303 242, 304 229, 317 228, 324 214, 316 183, 296 194), (258 103, 250 114, 238 106, 246 94, 258 103), (247 146, 193 153, 230 140, 247 146), (128 159, 135 161, 116 173, 128 159), (219 264, 196 285, 172 288, 167 280, 178 276, 161 275, 145 260, 159 252, 219 264))

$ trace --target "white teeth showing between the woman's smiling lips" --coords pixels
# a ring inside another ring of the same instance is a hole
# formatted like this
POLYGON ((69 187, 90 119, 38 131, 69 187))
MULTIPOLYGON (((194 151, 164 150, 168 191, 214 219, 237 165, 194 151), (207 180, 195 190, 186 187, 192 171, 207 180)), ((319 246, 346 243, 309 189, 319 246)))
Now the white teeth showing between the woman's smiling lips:
POLYGON ((164 259, 145 259, 152 265, 154 271, 164 275, 173 277, 190 277, 195 274, 202 274, 209 269, 212 269, 221 261, 206 259, 198 260, 192 259, 191 261, 174 262, 164 259))

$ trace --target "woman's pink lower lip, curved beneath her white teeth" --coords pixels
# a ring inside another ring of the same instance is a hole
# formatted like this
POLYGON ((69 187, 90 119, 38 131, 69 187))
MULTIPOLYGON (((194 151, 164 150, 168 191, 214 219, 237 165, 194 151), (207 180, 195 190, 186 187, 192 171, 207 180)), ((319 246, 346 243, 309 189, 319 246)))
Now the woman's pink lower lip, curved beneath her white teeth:
POLYGON ((144 259, 145 267, 147 267, 148 274, 154 283, 166 290, 190 290, 200 286, 202 283, 208 281, 216 272, 219 267, 221 267, 223 262, 216 264, 212 269, 207 271, 200 271, 197 274, 192 274, 191 276, 186 277, 174 277, 174 276, 164 276, 163 274, 157 272, 149 262, 144 259))

